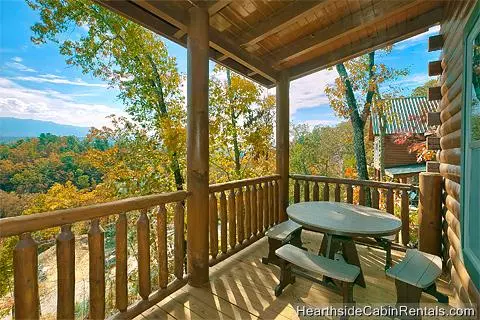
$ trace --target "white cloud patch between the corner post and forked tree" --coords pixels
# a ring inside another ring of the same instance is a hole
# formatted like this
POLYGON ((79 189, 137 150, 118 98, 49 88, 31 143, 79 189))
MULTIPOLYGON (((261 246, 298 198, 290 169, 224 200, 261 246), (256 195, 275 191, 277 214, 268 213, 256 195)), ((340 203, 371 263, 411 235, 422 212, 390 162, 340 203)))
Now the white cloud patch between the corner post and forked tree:
POLYGON ((314 108, 329 104, 325 87, 332 84, 338 74, 334 70, 322 70, 292 81, 290 84, 290 114, 298 109, 314 108))

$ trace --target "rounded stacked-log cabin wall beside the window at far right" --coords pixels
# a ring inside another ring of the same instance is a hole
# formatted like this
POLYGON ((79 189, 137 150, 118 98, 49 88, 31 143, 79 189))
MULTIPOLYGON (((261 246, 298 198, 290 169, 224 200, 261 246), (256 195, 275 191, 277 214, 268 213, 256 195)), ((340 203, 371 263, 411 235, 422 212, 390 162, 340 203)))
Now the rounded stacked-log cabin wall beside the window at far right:
POLYGON ((443 73, 440 77, 442 100, 441 126, 438 130, 442 150, 439 153, 440 173, 444 184, 444 254, 457 298, 465 305, 480 305, 478 289, 462 261, 460 234, 460 157, 461 110, 463 106, 464 27, 475 1, 450 1, 444 10, 440 34, 443 35, 443 73))

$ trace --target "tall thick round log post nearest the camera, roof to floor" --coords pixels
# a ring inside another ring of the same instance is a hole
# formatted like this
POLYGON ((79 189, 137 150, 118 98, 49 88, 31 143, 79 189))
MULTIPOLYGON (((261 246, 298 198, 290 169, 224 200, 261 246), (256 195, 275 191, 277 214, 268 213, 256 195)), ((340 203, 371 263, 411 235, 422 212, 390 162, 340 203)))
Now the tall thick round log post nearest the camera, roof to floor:
POLYGON ((208 282, 208 54, 209 15, 189 9, 187 39, 187 261, 189 284, 208 282))

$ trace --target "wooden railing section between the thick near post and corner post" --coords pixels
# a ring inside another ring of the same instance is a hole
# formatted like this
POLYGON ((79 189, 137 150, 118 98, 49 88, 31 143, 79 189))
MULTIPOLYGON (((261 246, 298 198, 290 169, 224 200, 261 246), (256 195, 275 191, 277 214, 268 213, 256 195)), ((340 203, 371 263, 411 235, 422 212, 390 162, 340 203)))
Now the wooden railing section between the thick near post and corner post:
POLYGON ((211 266, 260 239, 279 222, 279 180, 279 175, 272 175, 210 186, 211 266))

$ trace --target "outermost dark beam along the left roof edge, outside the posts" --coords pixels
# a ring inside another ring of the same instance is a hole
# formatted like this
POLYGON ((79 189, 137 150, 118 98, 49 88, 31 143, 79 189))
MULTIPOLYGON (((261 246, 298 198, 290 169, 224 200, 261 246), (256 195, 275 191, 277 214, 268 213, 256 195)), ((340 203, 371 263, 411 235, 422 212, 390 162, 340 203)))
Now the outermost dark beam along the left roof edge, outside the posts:
MULTIPOLYGON (((118 0, 94 0, 98 4, 118 13, 119 15, 134 21, 142 25, 143 27, 160 34, 161 36, 178 43, 179 45, 186 47, 186 37, 176 37, 175 34, 178 33, 181 29, 177 26, 166 22, 162 19, 159 19, 158 16, 153 13, 145 10, 144 8, 129 2, 129 1, 118 1, 118 0)), ((173 22, 173 20, 170 20, 173 22)), ((223 57, 223 53, 219 53, 213 48, 210 48, 210 58, 215 62, 231 68, 232 70, 245 75, 247 78, 264 85, 266 87, 272 87, 275 85, 275 81, 269 78, 264 77, 263 75, 255 75, 255 77, 248 76, 248 73, 251 72, 251 69, 248 66, 245 66, 233 59, 226 59, 225 61, 219 61, 218 59, 223 57)))

